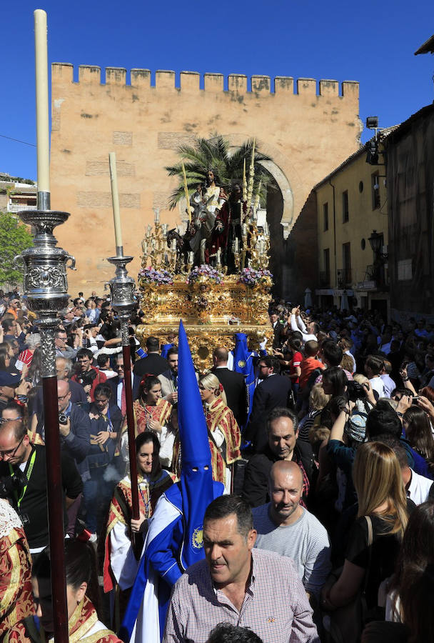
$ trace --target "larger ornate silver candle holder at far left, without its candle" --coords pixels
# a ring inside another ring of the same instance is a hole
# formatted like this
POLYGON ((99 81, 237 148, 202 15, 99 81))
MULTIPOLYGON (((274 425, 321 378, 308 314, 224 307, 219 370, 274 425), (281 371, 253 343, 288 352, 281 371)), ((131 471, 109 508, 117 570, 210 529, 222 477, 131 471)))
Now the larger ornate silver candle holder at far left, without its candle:
POLYGON ((24 210, 21 220, 36 228, 34 246, 15 257, 24 267, 24 299, 33 311, 41 329, 42 377, 56 376, 54 332, 59 325, 58 313, 69 300, 66 268, 75 268, 76 260, 56 246, 56 226, 69 218, 67 212, 24 210))

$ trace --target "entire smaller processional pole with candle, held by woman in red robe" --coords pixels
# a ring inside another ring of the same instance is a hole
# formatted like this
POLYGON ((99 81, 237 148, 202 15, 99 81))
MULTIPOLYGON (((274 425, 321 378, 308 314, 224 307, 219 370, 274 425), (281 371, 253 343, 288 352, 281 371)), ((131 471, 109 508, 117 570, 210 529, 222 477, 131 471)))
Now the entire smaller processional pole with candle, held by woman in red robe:
MULTIPOLYGON (((134 289, 135 282, 128 276, 126 264, 132 261, 132 256, 123 255, 122 233, 121 233, 121 216, 119 211, 118 198, 118 179, 116 174, 116 154, 109 154, 110 179, 111 179, 111 200, 113 203, 113 221, 116 238, 116 256, 108 257, 107 261, 116 266, 116 276, 109 281, 111 293, 111 305, 118 314, 121 322, 122 354, 123 354, 123 374, 125 382, 125 402, 126 402, 126 424, 128 428, 128 456, 130 460, 130 478, 131 478, 131 503, 133 519, 140 517, 138 509, 138 484, 137 484, 137 463, 136 463, 136 432, 134 428, 133 415, 133 388, 131 386, 131 347, 128 334, 128 320, 134 309, 134 289)), ((136 556, 141 552, 133 548, 136 556)))

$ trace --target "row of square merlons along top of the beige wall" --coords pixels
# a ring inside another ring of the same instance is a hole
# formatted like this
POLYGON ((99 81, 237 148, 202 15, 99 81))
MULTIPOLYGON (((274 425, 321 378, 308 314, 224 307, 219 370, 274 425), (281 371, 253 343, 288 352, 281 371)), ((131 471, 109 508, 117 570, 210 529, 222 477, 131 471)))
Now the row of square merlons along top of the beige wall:
MULTIPOLYGON (((74 83, 74 66, 70 63, 53 63, 51 65, 53 83, 56 85, 74 83)), ((155 73, 155 87, 151 86, 151 71, 149 69, 131 69, 131 85, 126 84, 127 70, 123 67, 106 67, 106 85, 123 85, 131 88, 149 89, 150 91, 186 91, 188 93, 206 91, 211 93, 223 92, 223 74, 203 74, 203 88, 200 89, 201 74, 197 71, 181 71, 180 87, 176 87, 176 72, 158 69, 155 73)), ((321 79, 318 83, 313 78, 298 78, 296 84, 291 76, 253 75, 250 78, 251 91, 248 90, 248 76, 244 74, 228 75, 228 92, 236 94, 254 94, 258 98, 265 96, 323 96, 349 101, 358 101, 358 81, 343 81, 321 79), (274 91, 273 84, 274 81, 274 91), (296 93, 294 93, 294 86, 296 93), (341 95, 339 94, 341 89, 341 95)), ((79 65, 78 84, 101 85, 101 67, 97 65, 79 65)))

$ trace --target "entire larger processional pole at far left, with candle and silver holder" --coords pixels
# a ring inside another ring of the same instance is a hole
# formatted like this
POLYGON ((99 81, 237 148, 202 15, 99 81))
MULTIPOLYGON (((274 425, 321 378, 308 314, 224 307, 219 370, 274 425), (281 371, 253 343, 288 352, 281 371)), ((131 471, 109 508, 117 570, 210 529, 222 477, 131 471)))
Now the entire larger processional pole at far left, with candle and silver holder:
POLYGON ((67 643, 68 609, 64 557, 64 504, 59 411, 57 407, 56 349, 54 334, 59 326, 57 314, 68 303, 66 267, 74 268, 75 259, 56 246, 53 230, 68 219, 67 212, 50 209, 49 178, 49 100, 46 12, 34 11, 36 70, 36 143, 38 196, 36 210, 21 211, 25 224, 34 226, 34 247, 23 251, 24 296, 26 304, 37 316, 41 332, 42 389, 44 394, 44 425, 46 442, 46 482, 49 512, 51 558, 51 595, 54 609, 54 640, 67 643))

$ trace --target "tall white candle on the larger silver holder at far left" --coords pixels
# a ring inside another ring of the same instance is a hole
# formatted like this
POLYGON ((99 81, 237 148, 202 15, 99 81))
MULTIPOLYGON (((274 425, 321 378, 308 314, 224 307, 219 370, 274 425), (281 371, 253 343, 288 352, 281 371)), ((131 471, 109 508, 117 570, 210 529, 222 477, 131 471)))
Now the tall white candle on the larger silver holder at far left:
POLYGON ((34 11, 36 76, 36 156, 38 191, 50 191, 49 76, 46 12, 34 11))

